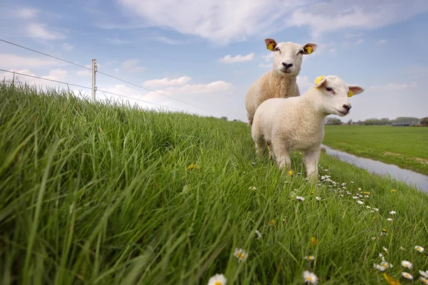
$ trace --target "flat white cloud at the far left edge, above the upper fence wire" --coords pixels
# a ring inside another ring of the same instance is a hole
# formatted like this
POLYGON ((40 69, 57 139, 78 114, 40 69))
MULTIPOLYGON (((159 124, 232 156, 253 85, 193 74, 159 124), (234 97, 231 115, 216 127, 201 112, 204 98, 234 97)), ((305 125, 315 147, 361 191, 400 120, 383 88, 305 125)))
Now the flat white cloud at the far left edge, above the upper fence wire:
POLYGON ((4 69, 27 69, 27 68, 43 68, 63 66, 64 63, 46 57, 28 57, 17 56, 13 53, 0 53, 1 66, 4 69))

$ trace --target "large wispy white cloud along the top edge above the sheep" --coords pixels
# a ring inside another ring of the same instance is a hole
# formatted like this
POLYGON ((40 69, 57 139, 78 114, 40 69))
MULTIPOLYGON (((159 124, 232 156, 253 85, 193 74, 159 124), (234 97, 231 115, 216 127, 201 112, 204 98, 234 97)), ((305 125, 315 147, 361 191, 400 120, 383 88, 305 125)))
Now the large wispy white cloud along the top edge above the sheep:
POLYGON ((173 28, 223 44, 292 26, 307 26, 314 36, 351 28, 379 28, 428 11, 426 0, 205 0, 197 5, 193 0, 119 2, 139 17, 132 21, 139 26, 173 28))

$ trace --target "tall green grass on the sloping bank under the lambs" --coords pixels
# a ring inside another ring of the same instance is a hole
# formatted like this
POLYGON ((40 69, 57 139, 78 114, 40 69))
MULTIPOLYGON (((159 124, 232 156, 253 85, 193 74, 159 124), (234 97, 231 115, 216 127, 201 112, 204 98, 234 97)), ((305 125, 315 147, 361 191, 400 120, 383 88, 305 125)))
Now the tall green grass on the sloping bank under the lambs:
POLYGON ((346 189, 310 185, 298 152, 293 176, 256 159, 245 123, 1 84, 0 138, 1 284, 385 284, 382 247, 391 276, 428 270, 428 195, 324 154, 346 189))

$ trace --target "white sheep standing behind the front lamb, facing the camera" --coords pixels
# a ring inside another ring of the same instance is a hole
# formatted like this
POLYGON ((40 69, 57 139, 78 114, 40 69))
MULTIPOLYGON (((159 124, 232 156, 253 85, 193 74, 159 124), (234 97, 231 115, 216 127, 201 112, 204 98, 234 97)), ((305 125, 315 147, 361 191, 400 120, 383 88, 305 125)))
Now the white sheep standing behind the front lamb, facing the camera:
POLYGON ((265 38, 265 45, 273 52, 273 68, 258 78, 245 96, 248 125, 253 124, 255 110, 269 98, 289 98, 300 95, 297 76, 300 73, 302 57, 317 49, 315 43, 282 42, 265 38))

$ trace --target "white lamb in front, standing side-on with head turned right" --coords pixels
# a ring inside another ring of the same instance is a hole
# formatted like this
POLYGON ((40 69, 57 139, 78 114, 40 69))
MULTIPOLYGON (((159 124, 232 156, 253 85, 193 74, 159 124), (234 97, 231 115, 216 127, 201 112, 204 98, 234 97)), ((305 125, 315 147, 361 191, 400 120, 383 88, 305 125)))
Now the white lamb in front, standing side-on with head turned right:
POLYGON ((350 113, 349 97, 363 91, 337 76, 320 76, 299 97, 265 100, 255 111, 251 130, 256 153, 263 155, 267 144, 280 169, 287 169, 290 152, 300 150, 305 153, 307 178, 316 181, 325 117, 350 113))

